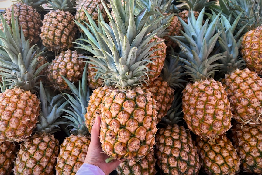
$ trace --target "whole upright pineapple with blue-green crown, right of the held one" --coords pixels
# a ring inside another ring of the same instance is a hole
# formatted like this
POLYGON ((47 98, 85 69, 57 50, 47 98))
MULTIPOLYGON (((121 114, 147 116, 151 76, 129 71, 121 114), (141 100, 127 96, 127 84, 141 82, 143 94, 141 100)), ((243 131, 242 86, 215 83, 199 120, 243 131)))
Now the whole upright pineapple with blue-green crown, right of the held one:
POLYGON ((214 140, 216 135, 224 134, 229 130, 232 113, 222 83, 211 78, 219 66, 214 62, 223 58, 221 54, 210 55, 221 34, 221 31, 215 33, 220 13, 210 24, 207 19, 202 25, 204 10, 201 10, 198 19, 195 19, 191 11, 188 24, 180 19, 185 30, 182 32, 184 37, 171 38, 177 41, 181 48, 185 58, 180 60, 193 81, 183 90, 184 120, 196 135, 214 140))

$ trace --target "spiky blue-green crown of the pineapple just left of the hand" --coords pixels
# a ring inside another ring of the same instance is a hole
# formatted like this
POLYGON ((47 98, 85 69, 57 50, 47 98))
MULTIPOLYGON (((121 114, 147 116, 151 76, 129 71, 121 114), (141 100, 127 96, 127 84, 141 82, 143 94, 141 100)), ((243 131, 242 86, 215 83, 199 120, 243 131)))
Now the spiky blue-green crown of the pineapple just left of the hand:
POLYGON ((61 77, 65 80, 72 91, 72 95, 68 93, 61 93, 67 97, 67 101, 70 104, 67 109, 60 109, 61 111, 67 113, 66 116, 63 116, 68 120, 67 132, 88 135, 89 132, 85 125, 84 117, 87 112, 86 108, 88 107, 88 100, 91 95, 90 89, 87 86, 87 64, 84 67, 82 81, 79 81, 78 88, 64 76, 61 77))

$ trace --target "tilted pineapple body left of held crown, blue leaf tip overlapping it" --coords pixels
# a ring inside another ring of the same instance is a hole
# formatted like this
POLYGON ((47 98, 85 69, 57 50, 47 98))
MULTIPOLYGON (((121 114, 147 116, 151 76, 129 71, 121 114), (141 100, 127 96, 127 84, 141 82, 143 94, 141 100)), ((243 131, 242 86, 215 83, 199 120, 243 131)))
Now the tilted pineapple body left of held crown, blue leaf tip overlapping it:
POLYGON ((55 57, 50 65, 48 65, 45 75, 47 76, 48 83, 52 85, 53 89, 58 89, 62 92, 70 92, 70 87, 61 77, 66 77, 70 83, 77 84, 81 79, 84 71, 84 58, 82 54, 70 49, 61 51, 55 57))

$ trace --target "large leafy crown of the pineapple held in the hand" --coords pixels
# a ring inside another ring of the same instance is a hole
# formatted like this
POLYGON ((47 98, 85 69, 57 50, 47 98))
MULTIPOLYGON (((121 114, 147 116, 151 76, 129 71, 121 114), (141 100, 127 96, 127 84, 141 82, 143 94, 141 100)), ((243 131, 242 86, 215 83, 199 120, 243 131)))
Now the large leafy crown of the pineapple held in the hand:
MULTIPOLYGON (((112 0, 112 11, 115 14, 115 20, 111 12, 106 10, 111 27, 99 16, 99 29, 94 26, 90 15, 87 14, 90 25, 87 25, 94 36, 84 29, 80 23, 77 23, 81 29, 86 32, 87 43, 93 46, 78 47, 89 50, 94 53, 94 57, 88 57, 94 61, 100 72, 104 84, 114 87, 140 86, 146 82, 148 68, 146 67, 151 58, 150 55, 156 51, 149 51, 157 42, 149 41, 160 31, 163 31, 167 25, 161 26, 152 31, 154 25, 160 23, 165 16, 159 16, 153 19, 149 25, 148 18, 158 12, 146 12, 146 9, 134 17, 134 0, 127 0, 126 5, 122 6, 120 0, 112 0), (101 30, 102 29, 102 30, 101 30), (100 31, 99 31, 100 30, 100 31), (99 31, 99 33, 98 33, 99 31), (150 33, 150 34, 149 34, 150 33)), ((103 3, 103 2, 102 2, 103 3)), ((105 3, 103 3, 105 6, 105 3)), ((95 67, 94 67, 95 68, 95 67)))

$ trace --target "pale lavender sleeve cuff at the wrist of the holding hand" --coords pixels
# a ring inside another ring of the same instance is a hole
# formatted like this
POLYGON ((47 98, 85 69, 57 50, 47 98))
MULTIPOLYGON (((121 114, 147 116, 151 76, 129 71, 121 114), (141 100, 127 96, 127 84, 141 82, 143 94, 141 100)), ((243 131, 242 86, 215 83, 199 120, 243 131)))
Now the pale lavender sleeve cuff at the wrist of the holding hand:
POLYGON ((105 173, 98 166, 84 163, 75 175, 105 175, 105 173))

